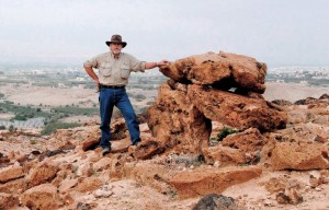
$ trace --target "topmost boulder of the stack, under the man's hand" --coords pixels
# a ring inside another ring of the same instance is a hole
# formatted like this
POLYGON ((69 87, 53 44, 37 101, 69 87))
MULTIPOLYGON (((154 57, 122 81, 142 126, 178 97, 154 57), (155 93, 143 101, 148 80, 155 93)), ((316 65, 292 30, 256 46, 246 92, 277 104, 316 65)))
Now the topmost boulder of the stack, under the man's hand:
POLYGON ((266 65, 247 56, 208 52, 179 59, 161 72, 180 83, 242 88, 263 93, 266 65))

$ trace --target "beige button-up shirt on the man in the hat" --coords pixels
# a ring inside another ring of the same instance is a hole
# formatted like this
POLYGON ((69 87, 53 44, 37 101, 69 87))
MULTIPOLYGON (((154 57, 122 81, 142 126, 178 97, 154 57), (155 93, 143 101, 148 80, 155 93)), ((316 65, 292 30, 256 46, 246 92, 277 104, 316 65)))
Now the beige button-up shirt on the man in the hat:
POLYGON ((120 57, 115 59, 113 54, 109 51, 87 60, 83 66, 99 70, 101 84, 127 85, 131 72, 144 72, 145 63, 145 61, 140 61, 126 52, 121 52, 120 57))

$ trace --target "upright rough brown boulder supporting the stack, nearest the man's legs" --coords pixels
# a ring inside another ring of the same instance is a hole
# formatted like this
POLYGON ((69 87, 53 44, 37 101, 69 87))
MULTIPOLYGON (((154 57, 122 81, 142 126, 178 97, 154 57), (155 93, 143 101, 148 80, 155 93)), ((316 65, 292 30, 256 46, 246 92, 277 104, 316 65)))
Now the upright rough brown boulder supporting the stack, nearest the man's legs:
POLYGON ((148 109, 148 126, 160 145, 180 152, 200 152, 211 135, 211 121, 193 105, 186 93, 168 84, 159 89, 148 109))

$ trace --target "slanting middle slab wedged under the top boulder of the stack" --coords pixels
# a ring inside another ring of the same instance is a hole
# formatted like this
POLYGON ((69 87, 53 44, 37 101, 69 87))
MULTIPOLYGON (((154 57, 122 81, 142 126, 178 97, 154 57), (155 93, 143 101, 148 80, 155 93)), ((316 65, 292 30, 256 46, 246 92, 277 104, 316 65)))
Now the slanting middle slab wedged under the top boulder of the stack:
POLYGON ((270 107, 264 100, 200 85, 189 85, 188 95, 206 118, 240 130, 253 127, 271 131, 284 128, 286 124, 286 114, 270 107))

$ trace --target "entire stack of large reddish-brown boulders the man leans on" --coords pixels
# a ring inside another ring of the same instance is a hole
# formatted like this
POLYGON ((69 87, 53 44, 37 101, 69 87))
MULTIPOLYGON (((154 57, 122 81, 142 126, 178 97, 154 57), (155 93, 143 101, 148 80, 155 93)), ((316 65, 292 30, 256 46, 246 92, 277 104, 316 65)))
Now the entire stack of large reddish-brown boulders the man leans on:
MULTIPOLYGON (((209 52, 177 60, 160 71, 170 80, 160 86, 148 109, 147 122, 155 139, 146 147, 147 158, 169 151, 201 152, 208 147, 211 121, 241 131, 285 128, 286 114, 259 94, 265 90, 266 66, 253 58, 209 52)), ((257 149, 261 149, 265 142, 260 142, 260 133, 256 136, 257 149)))

